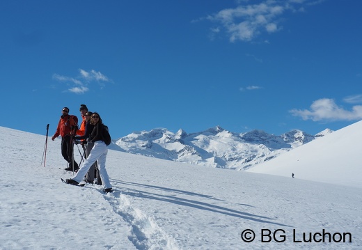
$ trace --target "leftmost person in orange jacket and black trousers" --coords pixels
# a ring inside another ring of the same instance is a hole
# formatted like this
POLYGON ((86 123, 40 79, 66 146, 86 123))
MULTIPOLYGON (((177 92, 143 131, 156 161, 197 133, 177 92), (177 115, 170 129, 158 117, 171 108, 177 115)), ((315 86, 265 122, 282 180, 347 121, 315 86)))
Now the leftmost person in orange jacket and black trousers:
POLYGON ((67 171, 77 171, 79 169, 73 157, 73 136, 77 131, 77 127, 77 116, 70 115, 69 108, 63 107, 58 127, 56 127, 56 132, 52 136, 52 141, 54 141, 56 137, 61 136, 61 155, 63 155, 64 159, 68 162, 68 167, 65 169, 67 171))

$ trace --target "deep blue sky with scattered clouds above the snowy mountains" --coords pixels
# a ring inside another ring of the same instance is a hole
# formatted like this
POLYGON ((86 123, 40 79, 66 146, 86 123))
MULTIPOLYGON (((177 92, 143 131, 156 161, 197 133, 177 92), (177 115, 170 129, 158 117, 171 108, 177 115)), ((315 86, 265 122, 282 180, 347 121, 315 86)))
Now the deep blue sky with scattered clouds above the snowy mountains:
POLYGON ((362 1, 1 1, 0 125, 113 139, 220 125, 316 134, 362 119, 362 1))

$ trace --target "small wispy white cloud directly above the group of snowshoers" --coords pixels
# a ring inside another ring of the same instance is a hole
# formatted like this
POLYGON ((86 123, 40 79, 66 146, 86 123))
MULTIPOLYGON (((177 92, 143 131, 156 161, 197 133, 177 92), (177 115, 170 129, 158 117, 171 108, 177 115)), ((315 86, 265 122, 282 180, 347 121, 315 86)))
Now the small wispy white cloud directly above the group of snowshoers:
POLYGON ((63 75, 54 74, 53 79, 71 86, 68 88, 68 91, 77 94, 84 94, 88 92, 88 85, 92 84, 94 81, 96 81, 101 88, 104 87, 104 83, 111 82, 111 79, 99 71, 91 70, 90 72, 87 72, 82 69, 79 69, 79 75, 77 77, 65 77, 63 75))

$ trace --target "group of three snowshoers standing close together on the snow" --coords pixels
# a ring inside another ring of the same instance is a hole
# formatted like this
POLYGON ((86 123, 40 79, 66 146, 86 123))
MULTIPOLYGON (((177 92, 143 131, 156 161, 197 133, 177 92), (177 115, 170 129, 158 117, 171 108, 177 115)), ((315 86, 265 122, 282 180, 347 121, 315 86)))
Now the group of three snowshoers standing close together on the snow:
POLYGON ((56 127, 56 132, 52 140, 61 136, 61 153, 68 162, 67 171, 77 172, 74 178, 67 179, 71 185, 78 185, 79 182, 103 185, 104 192, 112 192, 111 183, 106 170, 107 145, 104 143, 102 118, 97 112, 88 111, 85 104, 81 104, 81 125, 78 128, 77 116, 69 114, 70 109, 64 107, 62 115, 56 127), (74 143, 81 143, 84 149, 84 164, 79 168, 79 164, 74 159, 74 143))

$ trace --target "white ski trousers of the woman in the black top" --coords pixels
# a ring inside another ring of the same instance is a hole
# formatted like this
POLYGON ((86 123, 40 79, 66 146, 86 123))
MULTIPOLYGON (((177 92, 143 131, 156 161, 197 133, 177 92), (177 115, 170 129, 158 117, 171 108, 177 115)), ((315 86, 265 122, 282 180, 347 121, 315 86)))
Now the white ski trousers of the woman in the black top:
POLYGON ((76 182, 81 182, 89 168, 95 163, 96 160, 98 160, 98 168, 100 169, 100 178, 102 179, 103 187, 105 189, 111 188, 112 186, 109 182, 109 176, 106 170, 107 153, 108 148, 106 143, 104 143, 104 141, 95 141, 91 150, 91 154, 89 154, 83 166, 81 166, 77 174, 74 176, 73 180, 76 182))

